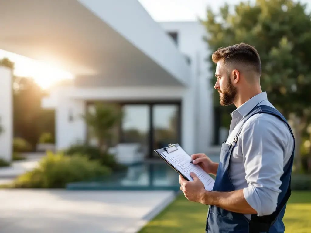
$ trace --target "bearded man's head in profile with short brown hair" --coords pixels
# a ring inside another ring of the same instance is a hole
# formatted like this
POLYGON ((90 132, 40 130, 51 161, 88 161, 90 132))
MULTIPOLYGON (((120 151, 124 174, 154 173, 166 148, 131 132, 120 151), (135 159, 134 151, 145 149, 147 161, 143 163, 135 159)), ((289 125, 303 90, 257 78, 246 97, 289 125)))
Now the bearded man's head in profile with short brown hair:
POLYGON ((216 66, 215 89, 220 95, 220 104, 230 105, 239 93, 252 87, 260 87, 261 62, 257 50, 240 43, 219 48, 212 55, 216 66))

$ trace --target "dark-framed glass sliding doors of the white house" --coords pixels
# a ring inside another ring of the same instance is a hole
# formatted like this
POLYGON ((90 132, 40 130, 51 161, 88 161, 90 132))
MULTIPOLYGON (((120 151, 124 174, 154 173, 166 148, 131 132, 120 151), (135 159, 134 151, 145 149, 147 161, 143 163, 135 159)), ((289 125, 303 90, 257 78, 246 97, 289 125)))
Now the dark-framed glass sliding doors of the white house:
MULTIPOLYGON (((118 103, 123 119, 112 130, 108 146, 119 143, 139 144, 145 158, 159 158, 155 149, 180 142, 180 103, 118 103)), ((87 111, 94 112, 94 103, 87 104, 87 111)), ((87 141, 97 146, 96 137, 87 127, 87 141)))

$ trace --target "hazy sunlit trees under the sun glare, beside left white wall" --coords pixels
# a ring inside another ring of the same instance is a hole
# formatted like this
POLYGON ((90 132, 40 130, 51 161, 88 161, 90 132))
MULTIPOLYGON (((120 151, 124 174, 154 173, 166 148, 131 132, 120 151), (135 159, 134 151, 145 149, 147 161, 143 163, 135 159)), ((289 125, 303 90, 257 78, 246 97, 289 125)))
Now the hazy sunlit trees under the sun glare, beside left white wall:
MULTIPOLYGON (((14 62, 0 59, 0 65, 14 70, 14 62)), ((13 132, 32 148, 44 132, 55 135, 55 111, 41 108, 41 99, 47 94, 32 78, 13 76, 13 132)))

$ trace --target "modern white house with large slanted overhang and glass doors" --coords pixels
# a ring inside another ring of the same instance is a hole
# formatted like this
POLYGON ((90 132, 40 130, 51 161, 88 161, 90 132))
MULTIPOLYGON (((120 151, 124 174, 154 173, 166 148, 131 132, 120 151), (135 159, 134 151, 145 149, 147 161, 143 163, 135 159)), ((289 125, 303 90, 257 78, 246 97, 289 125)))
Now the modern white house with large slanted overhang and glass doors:
POLYGON ((213 74, 199 22, 155 22, 137 0, 0 0, 0 6, 1 49, 75 76, 42 102, 56 110, 57 149, 94 143, 81 115, 103 102, 125 113, 116 147, 138 144, 143 158, 168 143, 207 152, 213 74))

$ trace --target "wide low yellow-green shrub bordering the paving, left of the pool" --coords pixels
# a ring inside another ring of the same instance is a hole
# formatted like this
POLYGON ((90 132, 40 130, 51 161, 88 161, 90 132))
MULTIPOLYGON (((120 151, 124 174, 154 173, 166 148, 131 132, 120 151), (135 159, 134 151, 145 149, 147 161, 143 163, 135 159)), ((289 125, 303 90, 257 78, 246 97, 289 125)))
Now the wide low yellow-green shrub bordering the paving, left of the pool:
POLYGON ((111 173, 108 167, 98 161, 90 161, 85 156, 65 156, 62 153, 47 153, 39 166, 18 176, 15 188, 65 188, 69 182, 87 181, 111 173))

